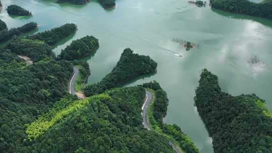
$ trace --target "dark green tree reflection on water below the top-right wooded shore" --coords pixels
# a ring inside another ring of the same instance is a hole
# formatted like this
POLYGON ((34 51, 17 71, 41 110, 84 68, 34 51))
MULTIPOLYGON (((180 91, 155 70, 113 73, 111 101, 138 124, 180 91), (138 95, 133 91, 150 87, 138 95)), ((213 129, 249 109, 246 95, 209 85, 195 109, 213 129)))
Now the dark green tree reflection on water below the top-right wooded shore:
POLYGON ((261 18, 261 17, 253 17, 253 16, 248 16, 248 15, 243 15, 243 14, 238 14, 238 13, 231 13, 231 12, 226 12, 222 10, 218 10, 215 8, 212 8, 212 11, 214 13, 217 13, 221 16, 232 18, 232 19, 238 19, 238 20, 252 20, 256 21, 264 26, 268 26, 272 28, 272 20, 261 18))

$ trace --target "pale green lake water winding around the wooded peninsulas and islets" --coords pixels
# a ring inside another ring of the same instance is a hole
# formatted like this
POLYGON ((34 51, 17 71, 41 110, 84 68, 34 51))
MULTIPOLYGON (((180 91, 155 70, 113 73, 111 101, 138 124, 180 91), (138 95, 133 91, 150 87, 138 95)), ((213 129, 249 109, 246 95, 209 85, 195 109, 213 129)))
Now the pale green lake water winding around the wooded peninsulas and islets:
POLYGON ((200 119, 193 98, 201 69, 218 75, 224 92, 232 95, 255 93, 272 111, 272 21, 211 9, 198 8, 186 0, 117 0, 116 9, 105 11, 97 2, 83 6, 55 1, 2 1, 0 19, 9 28, 37 22, 38 31, 75 23, 78 31, 58 43, 54 52, 86 35, 99 39, 100 48, 84 58, 91 68, 88 84, 99 82, 111 71, 123 49, 149 55, 158 62, 156 74, 141 76, 123 86, 158 81, 169 98, 164 121, 177 124, 201 152, 213 152, 212 138, 200 119), (11 4, 33 14, 10 17, 11 4), (173 41, 173 39, 175 41, 173 41), (198 47, 187 51, 182 43, 198 47))

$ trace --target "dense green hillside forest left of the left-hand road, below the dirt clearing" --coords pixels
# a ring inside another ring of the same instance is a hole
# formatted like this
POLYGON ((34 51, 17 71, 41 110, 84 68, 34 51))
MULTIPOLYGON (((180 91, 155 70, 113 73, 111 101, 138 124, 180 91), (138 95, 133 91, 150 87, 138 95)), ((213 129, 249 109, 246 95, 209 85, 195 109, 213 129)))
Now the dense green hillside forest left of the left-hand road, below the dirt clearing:
POLYGON ((0 62, 9 61, 10 56, 12 62, 0 71, 0 147, 5 152, 20 152, 18 148, 27 139, 25 124, 33 122, 66 95, 73 65, 47 59, 26 66, 5 50, 1 51, 0 62))

